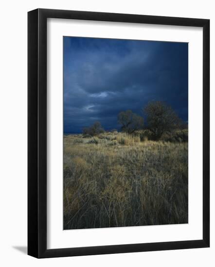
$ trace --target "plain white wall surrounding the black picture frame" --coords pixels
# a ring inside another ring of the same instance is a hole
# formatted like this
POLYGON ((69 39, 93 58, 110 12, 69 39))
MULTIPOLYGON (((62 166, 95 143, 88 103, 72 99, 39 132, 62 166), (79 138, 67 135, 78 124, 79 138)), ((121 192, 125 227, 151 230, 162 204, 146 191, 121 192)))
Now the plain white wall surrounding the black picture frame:
MULTIPOLYGON (((2 266, 214 266, 215 167, 211 167, 211 248, 40 259, 27 245, 27 11, 36 8, 211 19, 211 136, 215 135, 215 5, 213 0, 3 1, 0 15, 0 263, 2 266), (213 115, 213 116, 212 116, 213 115), (23 252, 25 251, 25 252, 23 252)), ((215 141, 211 138, 211 165, 215 141)), ((196 207, 198 209, 198 207, 196 207)))

